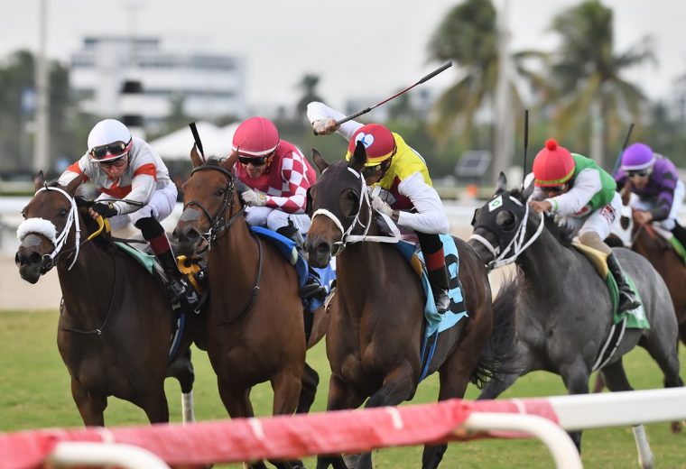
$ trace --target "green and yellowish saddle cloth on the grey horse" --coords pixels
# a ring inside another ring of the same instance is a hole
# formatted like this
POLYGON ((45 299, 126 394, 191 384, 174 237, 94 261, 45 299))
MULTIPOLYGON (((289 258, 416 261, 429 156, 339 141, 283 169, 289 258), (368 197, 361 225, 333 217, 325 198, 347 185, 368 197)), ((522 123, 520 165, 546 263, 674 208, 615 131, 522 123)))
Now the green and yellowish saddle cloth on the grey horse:
POLYGON ((641 305, 638 308, 630 309, 628 311, 624 311, 623 313, 618 313, 616 308, 617 304, 619 303, 619 290, 616 286, 615 277, 612 276, 607 268, 607 254, 601 253, 597 249, 593 249, 586 244, 581 244, 579 241, 572 242, 572 245, 577 251, 579 251, 579 253, 584 254, 584 256, 596 269, 598 275, 600 275, 600 278, 605 280, 607 290, 610 292, 610 299, 612 299, 612 323, 618 324, 626 317, 626 328, 649 329, 650 324, 648 324, 648 319, 645 317, 643 301, 641 301, 640 293, 638 290, 636 290, 634 280, 625 272, 626 282, 631 287, 631 290, 634 291, 634 294, 641 302, 641 305))

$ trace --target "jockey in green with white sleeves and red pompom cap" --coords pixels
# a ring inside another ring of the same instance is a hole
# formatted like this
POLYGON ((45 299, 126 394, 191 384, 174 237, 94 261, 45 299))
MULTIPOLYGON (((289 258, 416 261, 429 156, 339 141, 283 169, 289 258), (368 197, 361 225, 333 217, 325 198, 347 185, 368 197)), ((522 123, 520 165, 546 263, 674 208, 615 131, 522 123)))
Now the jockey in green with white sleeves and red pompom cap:
POLYGON ((570 153, 549 139, 533 160, 534 186, 530 206, 552 212, 578 230, 579 241, 607 254, 607 267, 619 289, 617 309, 638 308, 640 303, 626 282, 615 253, 603 241, 618 219, 622 200, 612 176, 585 156, 570 153))

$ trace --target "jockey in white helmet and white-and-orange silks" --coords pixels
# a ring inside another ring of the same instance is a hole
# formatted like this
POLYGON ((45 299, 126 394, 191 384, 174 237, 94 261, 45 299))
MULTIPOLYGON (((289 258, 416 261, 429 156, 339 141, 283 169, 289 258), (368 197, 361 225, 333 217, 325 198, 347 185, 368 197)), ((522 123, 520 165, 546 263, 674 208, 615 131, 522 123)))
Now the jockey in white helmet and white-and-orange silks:
POLYGON ((105 119, 88 134, 88 152, 61 174, 59 183, 67 185, 75 178, 90 179, 101 193, 88 208, 91 216, 109 218, 112 229, 133 223, 141 230, 167 274, 172 304, 194 309, 198 295, 179 271, 160 224, 172 213, 176 186, 153 147, 132 136, 125 124, 105 119))

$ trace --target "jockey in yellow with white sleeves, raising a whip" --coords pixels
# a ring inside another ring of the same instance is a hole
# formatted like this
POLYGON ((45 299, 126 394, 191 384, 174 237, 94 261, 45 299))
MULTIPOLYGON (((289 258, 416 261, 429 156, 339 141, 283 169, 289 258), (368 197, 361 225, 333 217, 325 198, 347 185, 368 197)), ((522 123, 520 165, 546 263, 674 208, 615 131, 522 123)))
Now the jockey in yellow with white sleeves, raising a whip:
POLYGON ((390 216, 400 226, 413 229, 419 237, 426 262, 431 291, 439 313, 450 309, 450 277, 445 264, 439 234, 450 230, 448 217, 435 189, 422 155, 413 150, 403 137, 381 124, 360 124, 320 102, 307 106, 307 116, 315 132, 326 135, 338 132, 348 140, 349 160, 358 140, 366 146, 363 175, 368 186, 378 185, 381 192, 372 197, 372 207, 390 216))

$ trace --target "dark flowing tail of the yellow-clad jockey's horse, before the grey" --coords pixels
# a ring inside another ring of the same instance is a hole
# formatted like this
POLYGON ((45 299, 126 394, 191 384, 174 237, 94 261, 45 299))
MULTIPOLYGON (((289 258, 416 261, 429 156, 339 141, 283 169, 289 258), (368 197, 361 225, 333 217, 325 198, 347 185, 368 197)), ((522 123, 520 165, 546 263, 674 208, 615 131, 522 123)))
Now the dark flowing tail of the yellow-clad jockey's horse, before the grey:
POLYGON ((478 389, 482 389, 487 382, 497 379, 497 375, 517 372, 506 369, 505 363, 510 362, 516 353, 514 317, 519 289, 518 276, 510 277, 503 281, 493 301, 491 336, 479 354, 477 367, 469 377, 478 389))

